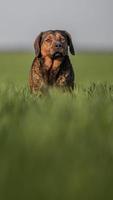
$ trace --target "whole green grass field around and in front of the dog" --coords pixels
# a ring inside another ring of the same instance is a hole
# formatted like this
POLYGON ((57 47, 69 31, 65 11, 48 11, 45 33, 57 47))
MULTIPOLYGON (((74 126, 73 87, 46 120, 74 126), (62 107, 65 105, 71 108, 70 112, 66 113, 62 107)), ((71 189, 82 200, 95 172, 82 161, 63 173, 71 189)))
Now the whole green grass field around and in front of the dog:
POLYGON ((71 57, 73 94, 32 95, 32 53, 0 53, 0 200, 113 199, 113 54, 71 57))

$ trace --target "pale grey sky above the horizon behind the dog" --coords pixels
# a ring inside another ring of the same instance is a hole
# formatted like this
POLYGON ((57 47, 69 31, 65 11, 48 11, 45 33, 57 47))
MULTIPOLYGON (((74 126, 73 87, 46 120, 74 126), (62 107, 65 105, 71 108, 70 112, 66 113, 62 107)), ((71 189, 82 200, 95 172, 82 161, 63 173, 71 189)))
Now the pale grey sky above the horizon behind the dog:
POLYGON ((113 0, 0 0, 0 50, 33 48, 40 31, 65 29, 76 49, 113 49, 113 0))

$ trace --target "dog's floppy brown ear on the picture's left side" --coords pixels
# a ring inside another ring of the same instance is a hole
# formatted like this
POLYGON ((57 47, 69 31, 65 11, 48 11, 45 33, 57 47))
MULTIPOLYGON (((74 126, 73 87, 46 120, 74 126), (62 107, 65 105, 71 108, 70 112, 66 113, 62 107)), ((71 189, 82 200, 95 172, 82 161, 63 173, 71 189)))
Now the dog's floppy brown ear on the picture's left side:
POLYGON ((41 39, 42 39, 43 32, 41 32, 35 39, 34 42, 34 49, 35 55, 39 58, 41 56, 41 39))

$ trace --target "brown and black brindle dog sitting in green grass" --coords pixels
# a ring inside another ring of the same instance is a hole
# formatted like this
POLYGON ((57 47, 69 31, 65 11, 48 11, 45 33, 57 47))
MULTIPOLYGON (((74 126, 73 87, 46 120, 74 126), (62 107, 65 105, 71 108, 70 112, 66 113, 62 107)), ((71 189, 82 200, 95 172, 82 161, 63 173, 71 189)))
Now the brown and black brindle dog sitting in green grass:
POLYGON ((35 58, 30 71, 32 92, 47 86, 74 89, 74 71, 68 56, 68 47, 75 55, 71 36, 66 31, 50 30, 40 33, 34 43, 35 58))

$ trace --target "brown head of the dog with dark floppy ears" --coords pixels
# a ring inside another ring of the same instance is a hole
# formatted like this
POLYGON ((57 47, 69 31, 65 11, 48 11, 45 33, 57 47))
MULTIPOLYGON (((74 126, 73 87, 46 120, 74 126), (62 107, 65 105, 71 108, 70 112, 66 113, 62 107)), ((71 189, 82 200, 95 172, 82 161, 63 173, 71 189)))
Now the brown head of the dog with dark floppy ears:
POLYGON ((68 48, 75 55, 71 35, 66 31, 46 31, 40 33, 34 43, 35 55, 56 59, 68 55, 68 48))

